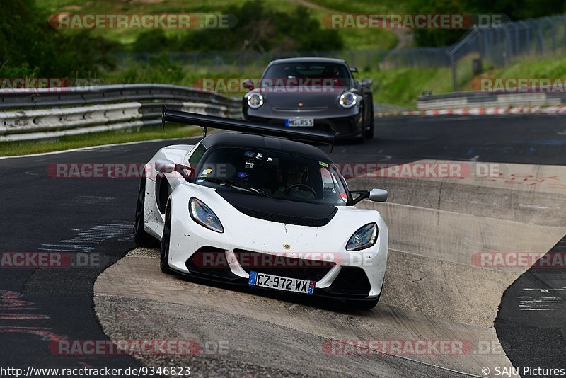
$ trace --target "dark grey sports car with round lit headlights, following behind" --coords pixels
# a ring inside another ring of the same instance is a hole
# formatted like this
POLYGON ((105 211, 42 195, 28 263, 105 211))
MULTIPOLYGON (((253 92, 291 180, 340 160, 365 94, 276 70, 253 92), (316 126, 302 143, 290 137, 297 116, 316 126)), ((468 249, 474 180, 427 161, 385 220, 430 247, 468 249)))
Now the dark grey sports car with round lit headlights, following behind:
POLYGON ((338 139, 374 137, 371 80, 357 81, 342 59, 288 58, 267 65, 257 86, 246 80, 246 120, 334 130, 338 139))

